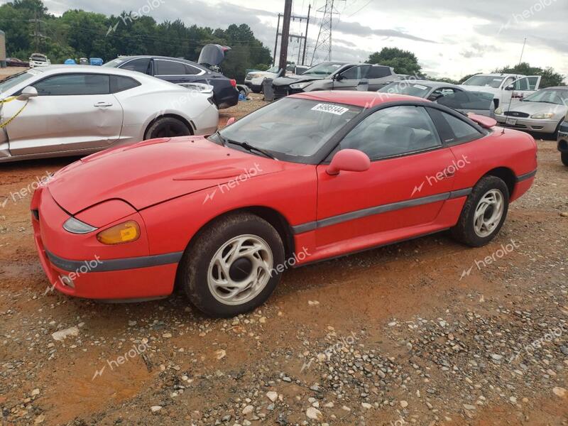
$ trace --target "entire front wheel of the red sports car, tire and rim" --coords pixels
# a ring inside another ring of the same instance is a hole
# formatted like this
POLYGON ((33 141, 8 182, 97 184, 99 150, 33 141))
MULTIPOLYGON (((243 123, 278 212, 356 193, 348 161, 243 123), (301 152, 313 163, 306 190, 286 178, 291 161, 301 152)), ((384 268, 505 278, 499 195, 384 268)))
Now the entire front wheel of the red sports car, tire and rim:
POLYGON ((266 302, 280 282, 281 273, 276 270, 280 265, 285 263, 278 231, 254 214, 230 214, 209 224, 187 247, 178 283, 192 305, 205 315, 234 317, 266 302), (235 250, 249 253, 233 256, 235 250))

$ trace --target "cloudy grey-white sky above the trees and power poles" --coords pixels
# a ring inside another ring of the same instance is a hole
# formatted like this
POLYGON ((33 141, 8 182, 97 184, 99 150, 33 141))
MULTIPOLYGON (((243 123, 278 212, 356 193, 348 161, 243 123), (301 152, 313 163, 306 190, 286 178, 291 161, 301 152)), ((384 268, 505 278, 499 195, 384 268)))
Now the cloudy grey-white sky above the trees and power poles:
MULTIPOLYGON (((0 0, 4 3, 6 0, 0 0)), ((147 3, 158 5, 148 13, 156 21, 181 18, 185 23, 225 28, 247 23, 257 38, 273 50, 278 12, 283 0, 44 0, 51 13, 84 9, 99 13, 142 11, 147 3)), ((293 13, 320 9, 325 0, 294 0, 293 13)), ((568 75, 567 0, 335 0, 334 60, 366 60, 385 46, 413 51, 430 75, 459 78, 489 72, 523 60, 539 67, 554 67, 568 75)), ((148 8, 146 8, 147 10, 148 8)), ((319 16, 308 30, 308 52, 315 45, 319 16)), ((293 23, 292 33, 305 31, 293 23)), ((297 58, 297 43, 289 56, 297 58)), ((311 58, 311 55, 310 55, 311 58)))

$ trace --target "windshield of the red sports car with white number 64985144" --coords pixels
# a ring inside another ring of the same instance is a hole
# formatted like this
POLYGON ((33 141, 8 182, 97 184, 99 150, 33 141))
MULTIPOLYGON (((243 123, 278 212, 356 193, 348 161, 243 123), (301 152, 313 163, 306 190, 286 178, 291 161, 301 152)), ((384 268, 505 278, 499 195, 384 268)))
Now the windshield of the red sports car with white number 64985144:
POLYGON ((302 163, 359 112, 361 108, 351 105, 286 97, 226 127, 219 132, 220 138, 210 139, 246 142, 279 160, 302 163))

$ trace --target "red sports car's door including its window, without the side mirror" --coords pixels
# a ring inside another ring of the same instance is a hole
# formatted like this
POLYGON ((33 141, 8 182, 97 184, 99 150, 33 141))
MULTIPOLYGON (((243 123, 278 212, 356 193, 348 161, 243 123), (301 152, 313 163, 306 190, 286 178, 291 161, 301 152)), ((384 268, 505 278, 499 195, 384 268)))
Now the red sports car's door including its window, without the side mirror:
POLYGON ((395 236, 408 229, 420 232, 435 221, 454 186, 454 155, 425 107, 374 112, 349 132, 336 152, 345 148, 366 153, 371 168, 331 176, 327 164, 317 166, 317 246, 395 236))

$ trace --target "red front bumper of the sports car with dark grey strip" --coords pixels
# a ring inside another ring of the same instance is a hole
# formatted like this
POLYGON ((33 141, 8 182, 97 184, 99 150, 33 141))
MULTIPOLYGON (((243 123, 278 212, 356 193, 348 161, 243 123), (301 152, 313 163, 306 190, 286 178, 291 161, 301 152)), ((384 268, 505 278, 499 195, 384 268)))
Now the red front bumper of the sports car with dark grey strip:
MULTIPOLYGON (((119 246, 98 243, 92 234, 99 230, 70 234, 62 228, 70 216, 53 200, 47 187, 34 192, 31 209, 35 248, 50 283, 45 293, 55 289, 100 300, 151 299, 172 293, 182 253, 151 255, 144 231, 137 241, 119 246)), ((129 218, 139 221, 142 229, 137 212, 116 222, 129 218)))

